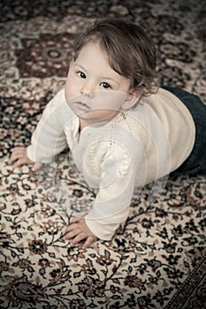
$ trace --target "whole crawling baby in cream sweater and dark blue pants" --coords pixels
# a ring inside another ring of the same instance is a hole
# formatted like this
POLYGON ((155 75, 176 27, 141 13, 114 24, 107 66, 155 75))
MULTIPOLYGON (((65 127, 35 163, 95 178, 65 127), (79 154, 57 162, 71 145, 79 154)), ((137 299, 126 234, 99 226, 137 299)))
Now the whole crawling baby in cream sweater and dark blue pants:
POLYGON ((139 26, 98 19, 78 36, 65 88, 49 102, 31 145, 11 150, 13 168, 51 162, 66 147, 88 185, 91 211, 65 230, 87 248, 110 240, 134 188, 172 171, 206 170, 206 106, 176 87, 154 87, 156 48, 139 26))

